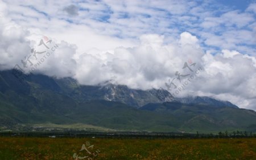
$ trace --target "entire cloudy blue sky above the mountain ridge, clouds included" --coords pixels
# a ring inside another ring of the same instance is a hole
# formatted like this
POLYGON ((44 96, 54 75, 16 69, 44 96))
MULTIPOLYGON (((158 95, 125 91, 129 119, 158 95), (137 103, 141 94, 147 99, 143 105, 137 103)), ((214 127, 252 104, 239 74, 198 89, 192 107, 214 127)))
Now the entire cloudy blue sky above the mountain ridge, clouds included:
POLYGON ((256 1, 0 0, 0 70, 256 110, 256 1))

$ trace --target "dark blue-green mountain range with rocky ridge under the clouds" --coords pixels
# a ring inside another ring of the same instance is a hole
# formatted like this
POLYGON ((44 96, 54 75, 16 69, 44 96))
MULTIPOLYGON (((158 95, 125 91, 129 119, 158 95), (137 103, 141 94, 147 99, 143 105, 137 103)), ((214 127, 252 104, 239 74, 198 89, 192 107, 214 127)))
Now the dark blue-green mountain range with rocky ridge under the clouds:
POLYGON ((25 77, 20 79, 14 72, 0 71, 2 131, 78 124, 85 130, 106 131, 256 131, 255 111, 228 101, 175 98, 164 89, 130 89, 110 83, 80 85, 71 77, 20 73, 25 77))

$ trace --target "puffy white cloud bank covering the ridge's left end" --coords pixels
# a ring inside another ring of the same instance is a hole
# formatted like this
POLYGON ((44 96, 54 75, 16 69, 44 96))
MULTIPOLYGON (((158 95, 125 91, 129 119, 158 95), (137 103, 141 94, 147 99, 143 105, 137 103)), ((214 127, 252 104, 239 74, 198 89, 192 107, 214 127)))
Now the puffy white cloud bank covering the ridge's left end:
MULTIPOLYGON (((2 10, 3 14, 4 11, 2 10)), ((76 70, 76 61, 73 59, 76 46, 64 41, 55 43, 42 34, 33 35, 9 18, 1 18, 0 70, 16 68, 26 73, 44 73, 56 77, 73 76, 76 70), (47 41, 51 44, 47 44, 47 41)))

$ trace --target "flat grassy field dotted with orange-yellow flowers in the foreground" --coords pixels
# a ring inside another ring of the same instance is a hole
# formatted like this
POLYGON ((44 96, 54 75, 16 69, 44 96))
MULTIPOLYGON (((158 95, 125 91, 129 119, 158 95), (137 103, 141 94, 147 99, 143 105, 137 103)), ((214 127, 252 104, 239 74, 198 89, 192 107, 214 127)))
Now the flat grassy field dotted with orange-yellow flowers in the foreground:
POLYGON ((147 140, 98 139, 97 137, 96 139, 0 137, 1 160, 79 158, 256 159, 256 139, 147 140), (82 148, 83 144, 85 144, 84 148, 82 148))

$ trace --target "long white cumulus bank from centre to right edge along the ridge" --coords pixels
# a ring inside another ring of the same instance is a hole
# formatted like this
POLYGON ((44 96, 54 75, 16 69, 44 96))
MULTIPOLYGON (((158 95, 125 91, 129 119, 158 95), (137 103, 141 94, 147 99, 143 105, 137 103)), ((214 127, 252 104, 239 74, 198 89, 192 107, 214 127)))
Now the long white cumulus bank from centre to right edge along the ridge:
MULTIPOLYGON (((253 102, 256 94, 254 88, 250 87, 256 83, 254 57, 242 55, 235 50, 222 50, 222 53, 216 55, 204 54, 197 46, 197 38, 188 32, 182 33, 180 40, 173 44, 164 45, 162 39, 155 34, 144 35, 141 45, 120 47, 113 53, 105 53, 105 59, 90 54, 82 55, 80 60, 85 63, 78 67, 80 69, 76 78, 82 84, 97 84, 112 79, 115 83, 126 84, 131 88, 165 88, 164 83, 174 78, 176 71, 189 73, 182 67, 184 62, 191 59, 197 66, 202 66, 204 72, 179 96, 209 95, 221 100, 229 97, 231 102, 240 107, 255 109, 253 102), (180 42, 184 42, 184 35, 186 40, 192 38, 189 43, 195 43, 182 45, 180 42), (189 49, 185 49, 186 46, 190 46, 189 49)), ((182 85, 179 81, 176 83, 182 85)))

